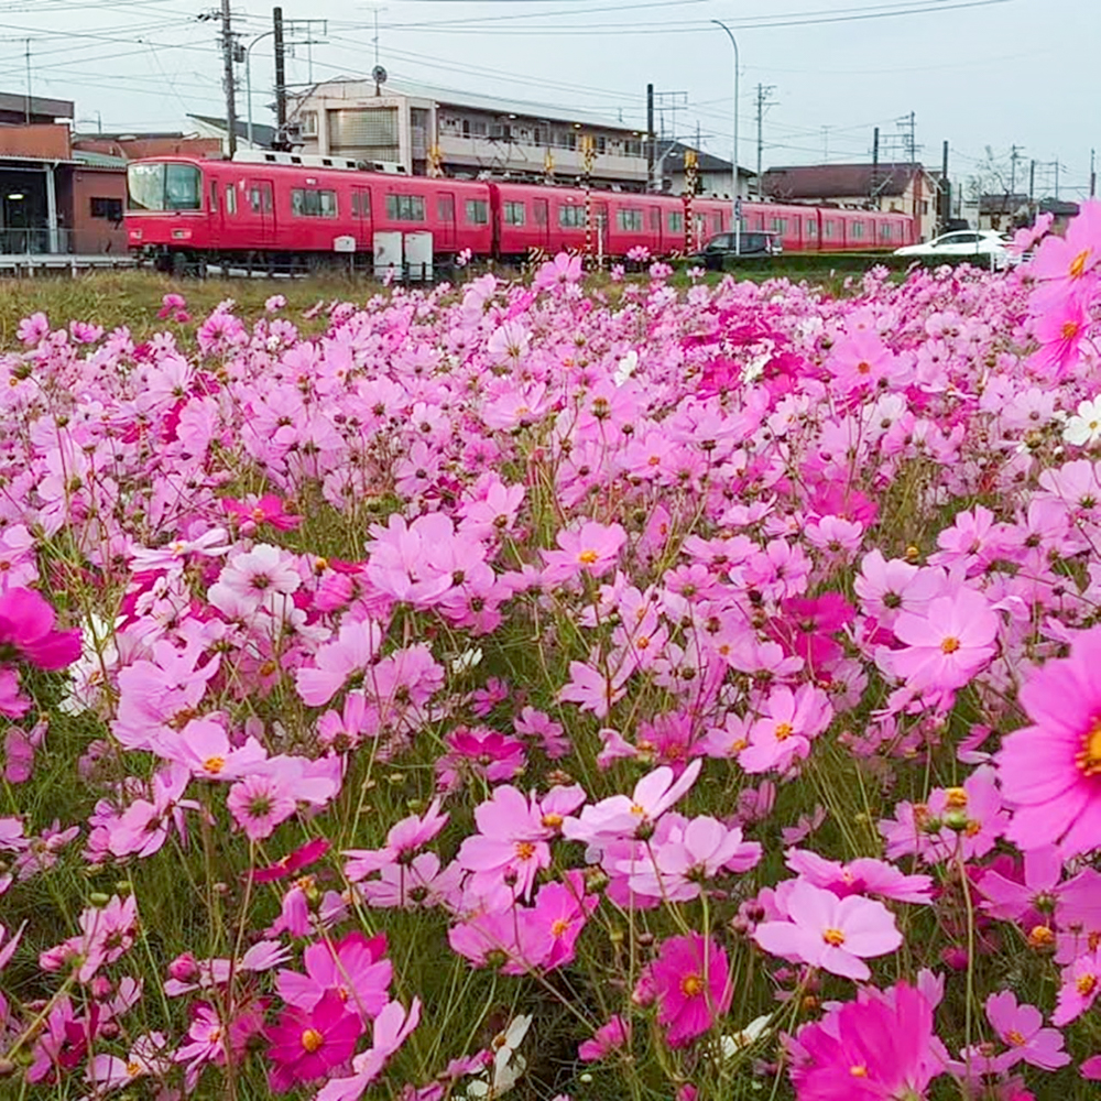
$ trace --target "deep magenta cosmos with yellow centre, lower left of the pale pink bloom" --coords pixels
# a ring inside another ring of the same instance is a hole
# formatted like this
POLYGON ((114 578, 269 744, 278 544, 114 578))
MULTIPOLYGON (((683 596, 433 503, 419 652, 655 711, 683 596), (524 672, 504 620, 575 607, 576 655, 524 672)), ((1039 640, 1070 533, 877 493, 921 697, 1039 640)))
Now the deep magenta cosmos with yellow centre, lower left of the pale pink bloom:
POLYGON ((730 1009, 734 993, 727 953, 698 933, 664 940, 646 981, 669 1047, 684 1047, 706 1033, 730 1009))

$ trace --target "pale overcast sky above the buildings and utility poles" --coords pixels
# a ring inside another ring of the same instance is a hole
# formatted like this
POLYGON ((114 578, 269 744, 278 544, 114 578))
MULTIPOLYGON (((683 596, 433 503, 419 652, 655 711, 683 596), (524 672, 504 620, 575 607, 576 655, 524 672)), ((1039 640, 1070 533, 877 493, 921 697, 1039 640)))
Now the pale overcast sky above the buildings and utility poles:
MULTIPOLYGON (((218 24, 198 17, 219 0, 0 0, 0 90, 73 99, 80 129, 186 129, 187 113, 225 115, 218 24), (29 40, 29 42, 28 42, 29 40)), ((1089 184, 1101 148, 1101 0, 284 0, 286 20, 326 19, 299 45, 288 81, 360 75, 379 57, 395 80, 563 108, 642 126, 645 86, 668 105, 667 134, 730 155, 733 65, 721 19, 741 51, 741 163, 756 162, 759 84, 763 164, 865 160, 881 128, 884 159, 916 112, 919 156, 952 175, 988 159, 1009 186, 1060 193, 1089 184), (767 25, 773 24, 773 25, 767 25), (679 105, 673 109, 674 100, 679 105)), ((237 0, 248 42, 271 7, 237 0)), ((304 35, 299 35, 304 37, 304 35)), ((244 72, 239 111, 244 115, 244 72)), ((253 112, 270 122, 271 37, 252 51, 253 112)))

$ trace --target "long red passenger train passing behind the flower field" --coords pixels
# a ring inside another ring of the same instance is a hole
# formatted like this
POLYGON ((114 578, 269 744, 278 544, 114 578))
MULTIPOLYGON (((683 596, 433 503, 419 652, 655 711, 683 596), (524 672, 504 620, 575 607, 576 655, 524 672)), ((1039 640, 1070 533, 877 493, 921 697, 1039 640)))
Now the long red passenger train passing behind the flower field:
MULTIPOLYGON (((207 263, 270 270, 323 266, 334 254, 370 262, 375 235, 432 233, 436 262, 464 250, 520 260, 586 248, 585 193, 571 187, 440 179, 368 172, 351 161, 248 154, 134 161, 128 170, 130 249, 177 273, 207 263)), ((636 247, 667 257, 729 231, 729 201, 696 198, 690 237, 685 203, 671 195, 593 190, 588 246, 607 258, 636 247)), ((745 203, 746 231, 780 235, 785 252, 891 250, 914 237, 902 214, 745 203)))

